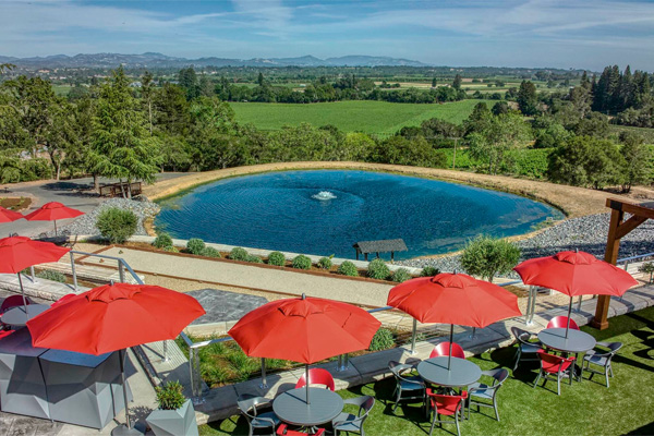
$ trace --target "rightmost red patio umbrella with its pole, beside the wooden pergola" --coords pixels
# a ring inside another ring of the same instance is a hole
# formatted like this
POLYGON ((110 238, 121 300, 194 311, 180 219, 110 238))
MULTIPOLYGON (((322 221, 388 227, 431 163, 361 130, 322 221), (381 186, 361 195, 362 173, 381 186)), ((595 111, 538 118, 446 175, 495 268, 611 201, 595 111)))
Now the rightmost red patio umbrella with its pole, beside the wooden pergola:
POLYGON ((524 261, 513 270, 520 275, 525 284, 554 289, 570 296, 566 338, 570 328, 572 296, 593 294, 619 296, 638 284, 638 281, 626 270, 580 251, 535 257, 524 261))

